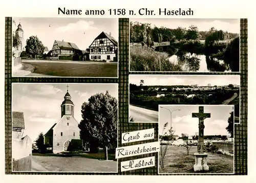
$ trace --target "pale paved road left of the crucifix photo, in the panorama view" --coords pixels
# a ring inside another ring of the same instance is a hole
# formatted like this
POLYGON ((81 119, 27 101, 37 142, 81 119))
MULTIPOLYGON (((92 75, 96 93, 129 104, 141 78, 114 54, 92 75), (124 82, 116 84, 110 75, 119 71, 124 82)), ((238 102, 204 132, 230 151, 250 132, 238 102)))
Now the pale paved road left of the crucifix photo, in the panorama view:
POLYGON ((133 105, 129 106, 130 116, 134 122, 158 122, 158 111, 148 110, 133 105))

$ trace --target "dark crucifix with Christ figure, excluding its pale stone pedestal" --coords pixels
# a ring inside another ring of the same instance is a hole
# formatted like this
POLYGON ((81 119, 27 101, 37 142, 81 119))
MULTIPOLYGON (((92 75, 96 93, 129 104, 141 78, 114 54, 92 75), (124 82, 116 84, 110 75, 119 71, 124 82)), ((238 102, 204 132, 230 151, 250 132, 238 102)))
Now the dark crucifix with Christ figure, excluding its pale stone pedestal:
POLYGON ((205 152, 205 146, 204 146, 204 120, 206 118, 210 118, 210 113, 204 113, 204 107, 199 106, 199 112, 193 112, 192 118, 198 118, 199 119, 199 143, 198 143, 198 153, 202 154, 205 152))

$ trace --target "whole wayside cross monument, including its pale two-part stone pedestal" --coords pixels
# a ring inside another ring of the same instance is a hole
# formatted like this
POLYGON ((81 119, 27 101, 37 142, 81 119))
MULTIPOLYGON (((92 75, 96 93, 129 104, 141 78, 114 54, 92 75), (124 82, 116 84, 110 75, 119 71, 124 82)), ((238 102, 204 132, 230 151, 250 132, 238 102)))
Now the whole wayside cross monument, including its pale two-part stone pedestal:
POLYGON ((206 162, 206 157, 208 154, 205 153, 205 145, 204 145, 204 120, 206 118, 210 118, 210 113, 204 113, 204 107, 199 106, 199 112, 193 112, 192 118, 199 119, 199 133, 198 133, 198 146, 197 153, 195 153, 196 163, 194 165, 194 171, 205 170, 208 171, 209 167, 206 162))

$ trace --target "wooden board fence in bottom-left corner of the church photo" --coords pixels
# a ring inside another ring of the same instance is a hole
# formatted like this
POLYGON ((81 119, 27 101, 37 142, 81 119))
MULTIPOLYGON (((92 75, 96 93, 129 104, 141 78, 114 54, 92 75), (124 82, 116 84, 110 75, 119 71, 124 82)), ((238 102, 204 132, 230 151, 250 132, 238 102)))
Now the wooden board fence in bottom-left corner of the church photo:
POLYGON ((13 159, 12 171, 31 171, 32 169, 32 154, 20 159, 13 159))

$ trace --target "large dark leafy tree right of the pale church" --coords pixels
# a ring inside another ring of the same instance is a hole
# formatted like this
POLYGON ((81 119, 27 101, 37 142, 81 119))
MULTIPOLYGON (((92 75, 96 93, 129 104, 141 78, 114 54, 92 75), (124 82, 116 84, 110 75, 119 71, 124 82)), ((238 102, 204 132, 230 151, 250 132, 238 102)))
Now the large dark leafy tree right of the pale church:
MULTIPOLYGON (((108 91, 98 93, 84 102, 81 108, 82 120, 80 139, 91 147, 102 147, 108 160, 108 147, 117 146, 117 100, 108 91)), ((91 148, 90 148, 91 150, 91 148)))

